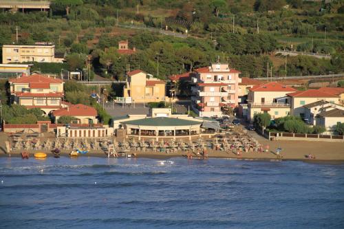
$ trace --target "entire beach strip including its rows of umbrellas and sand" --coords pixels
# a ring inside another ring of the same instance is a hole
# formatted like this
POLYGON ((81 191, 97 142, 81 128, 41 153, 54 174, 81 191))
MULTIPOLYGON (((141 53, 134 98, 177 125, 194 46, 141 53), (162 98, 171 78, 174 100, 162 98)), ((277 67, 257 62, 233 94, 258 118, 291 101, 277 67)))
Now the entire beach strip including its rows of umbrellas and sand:
POLYGON ((45 152, 53 156, 54 149, 61 150, 61 156, 69 155, 72 151, 85 151, 83 156, 114 157, 133 155, 133 157, 188 157, 203 158, 234 158, 247 160, 309 160, 308 155, 315 160, 343 160, 343 142, 305 142, 305 141, 269 141, 264 138, 253 138, 252 135, 235 131, 214 138, 198 138, 197 140, 146 140, 135 138, 116 139, 69 139, 69 138, 39 138, 35 135, 6 135, 1 133, 1 156, 19 156, 22 151, 31 155, 45 152), (111 152, 109 152, 111 149, 111 152), (277 153, 277 149, 280 153, 277 153), (190 157, 191 156, 191 157, 190 157))

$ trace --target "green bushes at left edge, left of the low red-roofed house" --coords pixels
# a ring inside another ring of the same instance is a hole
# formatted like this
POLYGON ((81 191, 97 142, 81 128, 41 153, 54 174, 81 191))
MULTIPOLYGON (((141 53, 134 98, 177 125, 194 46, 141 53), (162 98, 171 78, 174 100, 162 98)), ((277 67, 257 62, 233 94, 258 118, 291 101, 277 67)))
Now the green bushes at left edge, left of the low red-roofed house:
POLYGON ((34 124, 37 121, 48 121, 49 117, 39 108, 27 109, 21 105, 2 105, 2 120, 10 124, 34 124))

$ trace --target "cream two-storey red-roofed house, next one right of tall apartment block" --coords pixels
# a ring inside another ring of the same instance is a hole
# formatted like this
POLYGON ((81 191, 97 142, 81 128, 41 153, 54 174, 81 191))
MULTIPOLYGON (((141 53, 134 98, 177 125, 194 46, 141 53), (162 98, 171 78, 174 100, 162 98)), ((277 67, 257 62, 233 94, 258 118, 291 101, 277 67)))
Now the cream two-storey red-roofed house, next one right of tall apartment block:
POLYGON ((281 83, 271 82, 255 85, 248 89, 246 120, 253 122, 257 113, 269 113, 272 119, 290 114, 288 93, 297 91, 281 83))

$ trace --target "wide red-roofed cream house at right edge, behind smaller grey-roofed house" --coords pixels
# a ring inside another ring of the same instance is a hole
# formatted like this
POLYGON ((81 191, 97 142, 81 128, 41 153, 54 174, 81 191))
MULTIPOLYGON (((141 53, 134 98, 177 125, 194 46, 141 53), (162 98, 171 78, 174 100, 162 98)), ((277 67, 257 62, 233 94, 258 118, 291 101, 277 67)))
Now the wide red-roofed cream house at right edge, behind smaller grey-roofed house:
POLYGON ((319 100, 325 100, 327 102, 339 103, 339 96, 334 94, 329 94, 323 90, 319 89, 309 89, 306 91, 297 91, 289 93, 290 105, 293 116, 305 117, 305 107, 312 102, 319 100))

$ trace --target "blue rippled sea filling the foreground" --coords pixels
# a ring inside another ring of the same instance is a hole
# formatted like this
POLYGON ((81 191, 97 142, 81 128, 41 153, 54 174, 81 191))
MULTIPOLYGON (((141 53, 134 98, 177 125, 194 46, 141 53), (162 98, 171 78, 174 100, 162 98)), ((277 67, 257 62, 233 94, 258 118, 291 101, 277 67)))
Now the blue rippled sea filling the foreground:
POLYGON ((0 158, 0 228, 344 228, 344 165, 0 158))

